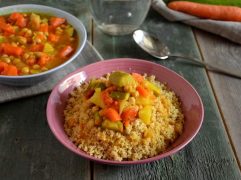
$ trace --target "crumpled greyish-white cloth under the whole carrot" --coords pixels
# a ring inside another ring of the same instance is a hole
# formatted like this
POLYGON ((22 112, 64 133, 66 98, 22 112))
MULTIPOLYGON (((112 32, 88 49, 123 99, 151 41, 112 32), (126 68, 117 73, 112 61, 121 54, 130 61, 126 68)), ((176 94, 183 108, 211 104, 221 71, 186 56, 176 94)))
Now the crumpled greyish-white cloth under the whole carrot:
POLYGON ((169 21, 180 21, 241 44, 241 22, 200 19, 169 9, 163 0, 153 0, 152 7, 169 21))

